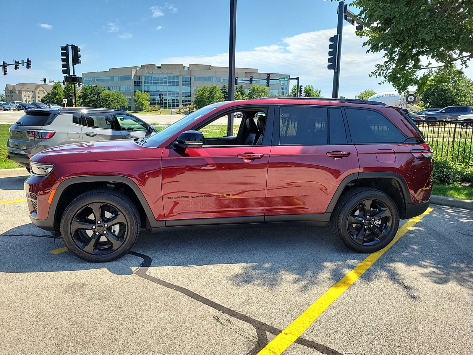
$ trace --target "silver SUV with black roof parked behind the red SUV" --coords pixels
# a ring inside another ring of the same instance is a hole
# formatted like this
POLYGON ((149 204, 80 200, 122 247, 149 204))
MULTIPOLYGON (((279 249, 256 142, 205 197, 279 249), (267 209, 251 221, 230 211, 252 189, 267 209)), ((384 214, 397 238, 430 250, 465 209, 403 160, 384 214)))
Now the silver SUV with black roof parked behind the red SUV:
POLYGON ((138 117, 105 108, 26 110, 10 127, 8 158, 30 168, 29 158, 44 149, 80 142, 148 137, 158 132, 138 117))

